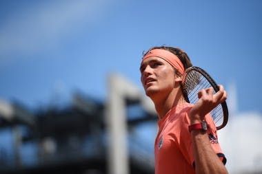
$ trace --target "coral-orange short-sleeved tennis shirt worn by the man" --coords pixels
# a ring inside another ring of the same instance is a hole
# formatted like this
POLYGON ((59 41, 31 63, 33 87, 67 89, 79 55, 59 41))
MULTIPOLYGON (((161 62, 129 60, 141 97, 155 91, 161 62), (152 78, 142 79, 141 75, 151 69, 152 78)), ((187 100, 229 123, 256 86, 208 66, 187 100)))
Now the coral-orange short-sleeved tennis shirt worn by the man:
MULTIPOLYGON (((173 107, 160 119, 159 133, 154 143, 155 174, 191 174, 194 173, 194 152, 190 125, 190 103, 173 107)), ((217 141, 216 127, 210 115, 205 117, 208 135, 214 152, 223 156, 217 141)), ((223 159, 225 160, 225 158, 223 159)))

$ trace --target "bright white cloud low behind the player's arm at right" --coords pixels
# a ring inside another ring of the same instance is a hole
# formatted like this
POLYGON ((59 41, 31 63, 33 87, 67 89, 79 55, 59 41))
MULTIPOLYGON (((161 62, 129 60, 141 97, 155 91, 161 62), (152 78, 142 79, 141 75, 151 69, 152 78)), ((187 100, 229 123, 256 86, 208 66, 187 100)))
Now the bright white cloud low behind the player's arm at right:
POLYGON ((262 171, 262 114, 241 113, 230 118, 219 131, 221 148, 228 158, 230 173, 262 171))

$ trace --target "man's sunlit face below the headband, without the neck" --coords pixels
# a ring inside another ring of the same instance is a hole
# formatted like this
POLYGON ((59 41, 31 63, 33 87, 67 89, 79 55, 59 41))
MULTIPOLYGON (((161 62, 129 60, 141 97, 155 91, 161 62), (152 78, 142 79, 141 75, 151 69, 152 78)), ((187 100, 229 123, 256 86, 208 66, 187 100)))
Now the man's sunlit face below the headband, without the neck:
POLYGON ((174 68, 157 56, 146 58, 140 66, 141 83, 147 96, 174 89, 174 68))

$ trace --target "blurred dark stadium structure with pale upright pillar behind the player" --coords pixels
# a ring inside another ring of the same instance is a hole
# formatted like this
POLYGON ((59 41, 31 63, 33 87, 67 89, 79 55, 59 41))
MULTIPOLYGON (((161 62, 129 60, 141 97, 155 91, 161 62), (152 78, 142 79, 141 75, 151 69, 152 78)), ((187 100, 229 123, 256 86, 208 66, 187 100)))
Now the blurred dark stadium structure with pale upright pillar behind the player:
POLYGON ((0 147, 0 173, 154 173, 153 144, 133 130, 157 116, 137 87, 109 79, 106 102, 81 92, 69 105, 36 111, 0 101, 0 129, 13 138, 11 153, 0 147))

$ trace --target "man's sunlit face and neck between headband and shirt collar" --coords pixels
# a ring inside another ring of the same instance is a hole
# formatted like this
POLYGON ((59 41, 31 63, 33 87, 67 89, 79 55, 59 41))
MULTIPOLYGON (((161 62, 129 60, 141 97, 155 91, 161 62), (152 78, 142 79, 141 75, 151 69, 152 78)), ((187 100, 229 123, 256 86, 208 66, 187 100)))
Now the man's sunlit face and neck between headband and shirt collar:
POLYGON ((183 100, 181 77, 174 73, 172 65, 157 56, 143 60, 140 72, 145 94, 154 102, 159 118, 163 118, 173 105, 183 100))

